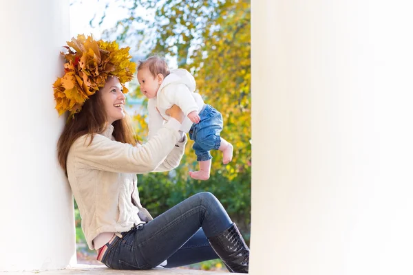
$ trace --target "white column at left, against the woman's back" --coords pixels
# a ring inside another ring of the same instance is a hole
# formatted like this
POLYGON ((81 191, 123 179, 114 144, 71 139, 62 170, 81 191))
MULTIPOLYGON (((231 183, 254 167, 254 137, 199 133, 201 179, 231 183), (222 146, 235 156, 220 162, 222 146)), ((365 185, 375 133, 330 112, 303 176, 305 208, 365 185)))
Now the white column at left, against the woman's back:
POLYGON ((69 1, 1 1, 0 270, 76 263, 70 186, 56 159, 65 123, 52 83, 70 37, 69 1))

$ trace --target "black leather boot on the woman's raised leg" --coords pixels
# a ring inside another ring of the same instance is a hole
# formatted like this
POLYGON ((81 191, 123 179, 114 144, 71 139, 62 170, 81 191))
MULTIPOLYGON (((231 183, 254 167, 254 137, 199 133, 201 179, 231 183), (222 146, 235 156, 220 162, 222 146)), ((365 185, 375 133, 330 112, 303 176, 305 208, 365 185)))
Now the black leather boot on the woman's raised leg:
POLYGON ((208 241, 229 272, 248 273, 249 248, 235 223, 218 236, 208 238, 208 241))

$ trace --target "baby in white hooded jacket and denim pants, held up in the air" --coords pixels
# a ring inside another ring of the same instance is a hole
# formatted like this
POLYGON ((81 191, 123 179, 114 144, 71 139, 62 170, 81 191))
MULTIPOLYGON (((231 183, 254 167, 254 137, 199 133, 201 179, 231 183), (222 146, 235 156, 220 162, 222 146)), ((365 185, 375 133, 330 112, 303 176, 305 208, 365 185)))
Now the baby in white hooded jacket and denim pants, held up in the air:
POLYGON ((224 164, 231 162, 233 146, 220 137, 222 115, 211 105, 204 104, 200 94, 195 93, 195 78, 186 69, 169 70, 163 58, 151 56, 139 62, 138 82, 140 91, 149 99, 148 139, 169 120, 165 111, 173 104, 187 116, 180 130, 189 133, 189 138, 195 142, 192 148, 200 170, 189 172, 193 179, 209 179, 212 159, 209 151, 212 149, 222 151, 224 164))

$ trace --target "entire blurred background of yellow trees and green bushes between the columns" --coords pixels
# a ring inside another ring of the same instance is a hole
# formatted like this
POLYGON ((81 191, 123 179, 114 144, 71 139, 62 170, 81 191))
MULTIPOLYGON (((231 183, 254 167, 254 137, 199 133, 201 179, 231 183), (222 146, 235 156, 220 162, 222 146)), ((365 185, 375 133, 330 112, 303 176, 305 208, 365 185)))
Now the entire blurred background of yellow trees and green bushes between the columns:
MULTIPOLYGON (((165 173, 139 175, 142 203, 160 214, 195 192, 207 190, 222 201, 240 229, 251 222, 251 3, 244 0, 118 0, 128 16, 104 33, 120 43, 138 41, 140 56, 152 53, 176 58, 195 76, 204 101, 224 118, 222 137, 234 146, 233 161, 222 165, 220 151, 211 151, 208 181, 188 175, 197 168, 189 141, 181 165, 165 173)), ((107 9, 109 10, 109 9, 107 9)), ((100 19, 102 23, 105 14, 100 19)), ((91 24, 94 22, 91 21, 91 24)), ((131 45, 133 46, 133 45, 131 45)), ((138 88, 137 88, 138 89, 138 88)), ((136 96, 140 96, 136 92, 136 96)), ((147 136, 146 114, 134 117, 137 136, 147 136)))

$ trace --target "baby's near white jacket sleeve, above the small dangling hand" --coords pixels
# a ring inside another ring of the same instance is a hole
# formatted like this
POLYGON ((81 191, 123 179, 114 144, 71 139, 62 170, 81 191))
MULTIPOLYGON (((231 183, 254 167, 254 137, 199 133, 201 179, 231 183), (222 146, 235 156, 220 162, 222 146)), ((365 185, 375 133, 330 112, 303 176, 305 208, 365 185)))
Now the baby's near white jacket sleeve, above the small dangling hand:
POLYGON ((177 84, 167 88, 169 89, 165 89, 165 96, 167 96, 169 102, 177 104, 185 115, 188 115, 191 111, 198 111, 198 104, 187 85, 177 84))

